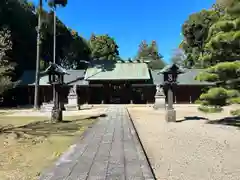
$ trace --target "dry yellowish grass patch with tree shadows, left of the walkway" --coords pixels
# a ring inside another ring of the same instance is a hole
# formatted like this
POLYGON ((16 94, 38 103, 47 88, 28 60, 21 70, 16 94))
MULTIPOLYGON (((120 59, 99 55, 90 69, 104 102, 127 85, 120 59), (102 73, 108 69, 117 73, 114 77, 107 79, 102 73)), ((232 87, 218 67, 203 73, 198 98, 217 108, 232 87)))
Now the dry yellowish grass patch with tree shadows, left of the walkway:
POLYGON ((0 114, 0 179, 35 180, 97 117, 69 116, 51 124, 46 117, 0 114))

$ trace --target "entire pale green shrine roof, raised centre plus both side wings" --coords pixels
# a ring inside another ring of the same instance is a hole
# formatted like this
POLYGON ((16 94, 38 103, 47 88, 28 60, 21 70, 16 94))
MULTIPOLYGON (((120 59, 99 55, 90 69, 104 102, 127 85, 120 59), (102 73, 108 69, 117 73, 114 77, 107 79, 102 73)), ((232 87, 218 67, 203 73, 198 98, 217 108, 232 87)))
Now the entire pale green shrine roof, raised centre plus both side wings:
MULTIPOLYGON (((110 63, 111 64, 111 63, 110 63)), ((200 82, 195 77, 201 69, 184 69, 185 73, 178 76, 179 85, 214 85, 215 83, 200 82)), ((109 66, 97 66, 87 70, 68 70, 64 76, 67 85, 88 85, 88 80, 145 80, 153 79, 154 84, 163 84, 163 74, 159 70, 148 70, 145 63, 114 63, 109 66), (150 72, 150 73, 149 73, 150 72)), ((25 71, 20 85, 34 85, 35 71, 25 71)), ((48 76, 41 76, 39 84, 49 85, 48 76)))

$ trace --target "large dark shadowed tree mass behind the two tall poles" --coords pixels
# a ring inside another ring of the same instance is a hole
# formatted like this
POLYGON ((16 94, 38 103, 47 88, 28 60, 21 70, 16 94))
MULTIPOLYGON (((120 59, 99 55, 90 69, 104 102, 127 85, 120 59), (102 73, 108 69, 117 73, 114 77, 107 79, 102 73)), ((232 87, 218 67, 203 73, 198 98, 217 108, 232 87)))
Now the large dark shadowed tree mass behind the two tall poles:
MULTIPOLYGON (((0 28, 7 26, 11 31, 12 58, 11 63, 16 64, 12 78, 19 79, 25 70, 36 69, 36 27, 38 24, 39 10, 27 0, 1 0, 0 1, 0 28)), ((53 54, 53 14, 43 10, 41 29, 41 67, 47 67, 52 61, 53 54)), ((67 28, 57 18, 57 48, 56 56, 59 63, 64 65, 76 64, 80 59, 89 56, 87 41, 72 35, 72 30, 67 28), (77 47, 78 46, 78 47, 77 47), (73 48, 74 47, 74 48, 73 48)), ((72 68, 72 67, 70 67, 72 68)))

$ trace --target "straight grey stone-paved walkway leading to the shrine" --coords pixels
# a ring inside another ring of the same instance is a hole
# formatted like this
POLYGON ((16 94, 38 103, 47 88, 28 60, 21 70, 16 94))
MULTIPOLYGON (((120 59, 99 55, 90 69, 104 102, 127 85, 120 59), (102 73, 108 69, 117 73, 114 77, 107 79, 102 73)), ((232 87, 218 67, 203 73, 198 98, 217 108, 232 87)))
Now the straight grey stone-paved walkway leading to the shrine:
POLYGON ((111 106, 40 180, 153 180, 127 110, 111 106))

